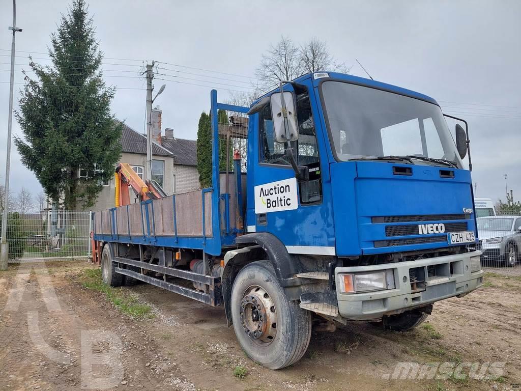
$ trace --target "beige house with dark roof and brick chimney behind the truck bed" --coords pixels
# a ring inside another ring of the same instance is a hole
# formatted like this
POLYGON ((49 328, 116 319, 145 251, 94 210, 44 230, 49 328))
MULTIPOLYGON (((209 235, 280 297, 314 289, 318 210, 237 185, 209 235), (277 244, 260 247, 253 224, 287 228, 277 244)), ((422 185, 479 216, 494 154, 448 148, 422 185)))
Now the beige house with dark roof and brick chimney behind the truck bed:
MULTIPOLYGON (((144 179, 146 175, 146 137, 122 124, 121 163, 128 163, 144 179)), ((161 131, 161 111, 152 109, 152 177, 167 194, 179 194, 200 189, 197 172, 197 148, 195 140, 175 138, 173 129, 161 131)), ((81 176, 80 172, 80 176, 81 176)), ((86 174, 85 174, 86 175, 86 174)), ((115 181, 103 184, 93 211, 109 209, 115 205, 115 181)), ((135 201, 135 200, 134 200, 135 201)))

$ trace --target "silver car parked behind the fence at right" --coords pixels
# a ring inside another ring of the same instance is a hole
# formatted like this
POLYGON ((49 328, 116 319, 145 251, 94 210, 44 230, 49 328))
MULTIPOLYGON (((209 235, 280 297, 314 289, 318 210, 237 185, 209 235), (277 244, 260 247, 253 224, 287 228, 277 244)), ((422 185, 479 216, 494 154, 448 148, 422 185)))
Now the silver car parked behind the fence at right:
POLYGON ((521 216, 478 217, 478 238, 481 261, 504 261, 515 266, 521 258, 521 216))

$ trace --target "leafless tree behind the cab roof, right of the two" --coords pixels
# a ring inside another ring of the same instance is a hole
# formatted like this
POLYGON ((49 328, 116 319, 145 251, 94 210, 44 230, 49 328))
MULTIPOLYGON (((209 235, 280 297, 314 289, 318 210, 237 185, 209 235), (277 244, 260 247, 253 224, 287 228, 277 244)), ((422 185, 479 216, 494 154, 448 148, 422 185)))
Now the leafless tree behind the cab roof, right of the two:
POLYGON ((319 71, 339 71, 348 73, 351 69, 345 63, 338 63, 329 52, 329 47, 325 41, 313 38, 300 46, 299 49, 300 68, 303 73, 313 73, 319 71))

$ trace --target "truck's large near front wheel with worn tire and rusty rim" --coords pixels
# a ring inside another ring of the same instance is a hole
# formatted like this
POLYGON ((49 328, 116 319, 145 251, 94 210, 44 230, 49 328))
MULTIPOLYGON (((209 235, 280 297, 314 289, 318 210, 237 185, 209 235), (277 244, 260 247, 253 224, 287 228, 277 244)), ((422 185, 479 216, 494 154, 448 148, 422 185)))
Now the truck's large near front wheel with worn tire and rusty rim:
POLYGON ((253 361, 281 369, 304 356, 311 312, 286 298, 269 261, 252 262, 239 272, 231 292, 231 315, 237 340, 253 361))

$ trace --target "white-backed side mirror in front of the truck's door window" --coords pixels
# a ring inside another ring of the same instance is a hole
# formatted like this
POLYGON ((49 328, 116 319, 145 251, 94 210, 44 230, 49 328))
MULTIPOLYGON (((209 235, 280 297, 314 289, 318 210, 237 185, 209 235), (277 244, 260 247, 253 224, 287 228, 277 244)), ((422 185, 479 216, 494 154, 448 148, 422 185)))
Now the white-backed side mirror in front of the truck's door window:
POLYGON ((270 105, 275 140, 281 143, 298 140, 299 129, 296 126, 293 94, 289 91, 283 94, 280 92, 273 93, 270 97, 270 105))

